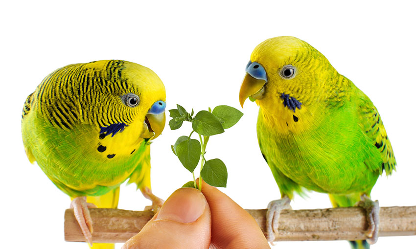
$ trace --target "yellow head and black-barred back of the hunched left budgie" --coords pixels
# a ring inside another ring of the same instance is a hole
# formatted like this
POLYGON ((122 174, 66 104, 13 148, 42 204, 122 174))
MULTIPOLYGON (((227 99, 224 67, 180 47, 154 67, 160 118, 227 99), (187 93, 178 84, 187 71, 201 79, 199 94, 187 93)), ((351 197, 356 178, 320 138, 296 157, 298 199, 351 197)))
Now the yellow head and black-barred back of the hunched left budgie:
POLYGON ((136 63, 68 65, 38 88, 40 111, 55 127, 70 131, 87 124, 99 139, 111 137, 118 147, 137 147, 143 139, 159 136, 165 125, 164 85, 156 73, 136 63))

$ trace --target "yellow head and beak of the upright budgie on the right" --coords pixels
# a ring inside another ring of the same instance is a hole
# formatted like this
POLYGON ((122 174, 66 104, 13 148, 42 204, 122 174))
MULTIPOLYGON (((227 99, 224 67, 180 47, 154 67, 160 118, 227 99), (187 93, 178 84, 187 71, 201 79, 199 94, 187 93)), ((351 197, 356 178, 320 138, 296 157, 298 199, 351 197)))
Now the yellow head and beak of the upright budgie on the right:
POLYGON ((283 99, 295 110, 322 98, 327 78, 334 73, 324 55, 306 42, 291 36, 268 39, 254 48, 246 67, 239 94, 241 107, 250 96, 260 106, 283 99))

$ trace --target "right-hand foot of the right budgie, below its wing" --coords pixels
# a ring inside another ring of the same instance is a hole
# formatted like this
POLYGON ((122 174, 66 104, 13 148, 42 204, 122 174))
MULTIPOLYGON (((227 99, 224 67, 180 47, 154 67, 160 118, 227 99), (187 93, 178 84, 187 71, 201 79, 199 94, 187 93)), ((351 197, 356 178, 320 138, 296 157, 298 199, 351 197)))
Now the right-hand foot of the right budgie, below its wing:
POLYGON ((367 195, 361 196, 361 201, 356 204, 359 207, 364 208, 366 211, 367 222, 369 223, 369 228, 365 231, 367 242, 372 245, 377 242, 378 239, 378 230, 380 225, 380 205, 378 200, 371 201, 367 195))

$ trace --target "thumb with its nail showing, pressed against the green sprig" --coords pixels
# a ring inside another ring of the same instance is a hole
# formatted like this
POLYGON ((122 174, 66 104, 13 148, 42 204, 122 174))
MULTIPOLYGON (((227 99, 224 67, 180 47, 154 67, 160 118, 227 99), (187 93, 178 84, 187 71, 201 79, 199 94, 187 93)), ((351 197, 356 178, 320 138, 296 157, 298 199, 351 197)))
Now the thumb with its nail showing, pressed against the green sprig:
POLYGON ((208 249, 210 239, 211 213, 207 200, 195 188, 180 188, 122 249, 208 249))

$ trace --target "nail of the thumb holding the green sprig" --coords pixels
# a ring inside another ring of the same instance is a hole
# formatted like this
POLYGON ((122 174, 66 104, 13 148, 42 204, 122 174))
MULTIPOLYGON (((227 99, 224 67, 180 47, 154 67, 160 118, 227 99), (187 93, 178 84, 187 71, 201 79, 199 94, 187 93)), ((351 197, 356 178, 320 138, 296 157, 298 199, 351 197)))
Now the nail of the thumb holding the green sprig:
POLYGON ((199 190, 180 188, 162 205, 156 220, 191 223, 204 213, 205 205, 205 197, 199 190))

